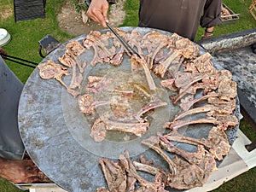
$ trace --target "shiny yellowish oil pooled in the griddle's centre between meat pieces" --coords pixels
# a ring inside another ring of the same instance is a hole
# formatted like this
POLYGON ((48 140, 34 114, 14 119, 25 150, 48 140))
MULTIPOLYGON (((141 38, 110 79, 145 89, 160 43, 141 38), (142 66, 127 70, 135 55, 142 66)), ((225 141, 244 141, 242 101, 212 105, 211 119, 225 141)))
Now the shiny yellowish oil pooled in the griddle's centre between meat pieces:
MULTIPOLYGON (((105 117, 106 115, 109 119, 113 119, 119 122, 129 122, 132 119, 132 115, 140 111, 145 105, 148 104, 152 100, 152 98, 159 98, 161 101, 168 101, 168 97, 166 96, 166 90, 160 86, 160 80, 154 77, 155 84, 157 86, 156 90, 148 89, 148 82, 146 80, 145 74, 143 70, 138 72, 131 72, 130 68, 123 67, 99 67, 93 68, 93 75, 98 77, 110 78, 113 79, 113 82, 107 86, 107 89, 100 91, 94 95, 95 101, 111 101, 113 103, 119 102, 119 104, 127 104, 126 115, 116 115, 114 111, 114 104, 103 105, 97 107, 95 109, 96 113, 93 115, 85 115, 84 117, 87 119, 89 125, 93 125, 94 121, 97 118, 105 117), (132 92, 131 97, 122 96, 120 94, 122 91, 130 91, 132 92)), ((92 75, 91 74, 91 75, 92 75)), ((166 107, 167 108, 167 107, 166 107)), ((148 120, 149 125, 151 125, 154 119, 154 115, 158 109, 152 109, 147 113, 144 113, 142 118, 148 120)), ((160 119, 163 120, 163 119, 160 119)), ((166 122, 166 119, 165 119, 166 122)), ((165 122, 162 122, 164 124, 165 122)), ((90 127, 91 127, 90 126, 90 127)), ((123 131, 108 131, 106 140, 114 141, 114 142, 126 142, 136 139, 137 136, 123 132, 123 131)))

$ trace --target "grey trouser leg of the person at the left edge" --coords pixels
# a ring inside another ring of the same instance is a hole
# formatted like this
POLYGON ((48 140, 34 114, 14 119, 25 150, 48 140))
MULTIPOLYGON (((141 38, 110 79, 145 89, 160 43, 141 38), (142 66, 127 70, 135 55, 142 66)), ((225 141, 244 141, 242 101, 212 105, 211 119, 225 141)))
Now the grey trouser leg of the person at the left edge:
POLYGON ((23 84, 0 56, 0 156, 22 159, 24 146, 18 128, 18 106, 23 84))

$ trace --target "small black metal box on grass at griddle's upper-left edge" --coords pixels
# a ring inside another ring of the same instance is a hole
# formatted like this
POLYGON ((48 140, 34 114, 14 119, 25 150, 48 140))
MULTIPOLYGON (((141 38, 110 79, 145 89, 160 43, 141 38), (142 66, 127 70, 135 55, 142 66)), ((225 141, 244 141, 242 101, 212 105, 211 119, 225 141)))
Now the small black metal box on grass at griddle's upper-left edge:
POLYGON ((39 55, 42 58, 45 57, 42 53, 42 49, 44 49, 44 52, 46 53, 46 55, 48 55, 50 52, 52 52, 54 49, 56 49, 61 45, 61 43, 51 35, 45 36, 40 41, 38 41, 38 43, 39 43, 39 55))

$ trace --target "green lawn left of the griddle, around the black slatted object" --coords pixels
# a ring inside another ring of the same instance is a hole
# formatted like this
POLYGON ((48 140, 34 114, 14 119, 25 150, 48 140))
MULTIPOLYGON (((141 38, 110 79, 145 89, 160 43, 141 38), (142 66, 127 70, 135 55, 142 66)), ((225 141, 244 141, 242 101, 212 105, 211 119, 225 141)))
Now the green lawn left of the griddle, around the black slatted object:
MULTIPOLYGON (((2 5, 4 4, 11 5, 13 10, 12 2, 10 0, 2 0, 0 12, 3 11, 4 6, 2 5)), ((6 20, 0 20, 1 27, 7 29, 12 38, 10 43, 4 46, 7 53, 28 61, 40 62, 42 58, 38 54, 38 41, 44 36, 51 34, 61 42, 66 42, 67 39, 72 38, 60 30, 56 20, 56 13, 60 11, 64 3, 65 1, 61 0, 47 1, 45 19, 25 20, 15 23, 14 15, 11 15, 6 20)), ((32 73, 32 68, 23 67, 10 61, 7 61, 7 63, 23 83, 32 73)))

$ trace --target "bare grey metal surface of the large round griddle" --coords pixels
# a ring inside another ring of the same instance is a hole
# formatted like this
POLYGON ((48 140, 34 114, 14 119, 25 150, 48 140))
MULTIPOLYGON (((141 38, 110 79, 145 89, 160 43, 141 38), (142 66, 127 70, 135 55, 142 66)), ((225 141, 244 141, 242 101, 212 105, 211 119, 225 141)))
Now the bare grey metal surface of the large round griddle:
MULTIPOLYGON (((150 28, 143 27, 121 27, 121 29, 126 32, 136 30, 142 35, 152 31, 150 28)), ((170 32, 159 32, 172 35, 170 32)), ((65 53, 66 45, 74 40, 82 43, 85 37, 86 35, 82 35, 62 44, 47 55, 41 63, 47 60, 59 63, 57 59, 65 53)), ((203 53, 205 51, 201 49, 201 54, 203 53)), ((93 51, 86 50, 83 55, 80 55, 80 59, 90 63, 92 56, 93 51)), ((122 63, 120 70, 129 69, 130 62, 127 61, 128 59, 125 58, 126 61, 123 61, 124 64, 122 63)), ((212 62, 215 67, 221 69, 216 61, 212 62)), ((107 67, 107 65, 91 67, 88 64, 84 69, 84 77, 102 73, 102 70, 106 70, 104 67, 107 67)), ((71 77, 63 77, 67 84, 70 79, 71 77)), ((118 75, 116 79, 118 79, 118 75)), ((159 79, 155 79, 155 81, 156 84, 160 84, 159 79)), ((164 122, 172 119, 173 115, 177 113, 177 108, 172 106, 166 90, 162 90, 160 87, 158 89, 155 96, 159 96, 168 105, 166 108, 154 110, 152 116, 156 120, 151 122, 147 133, 143 137, 137 137, 129 141, 105 139, 102 143, 96 143, 89 136, 91 124, 84 117, 84 114, 79 112, 77 100, 68 94, 67 90, 55 79, 41 79, 37 67, 27 79, 20 96, 19 127, 26 151, 39 169, 53 182, 61 188, 67 189, 67 191, 74 192, 93 192, 98 187, 107 187, 98 159, 117 160, 119 154, 122 154, 125 149, 128 149, 133 160, 137 160, 140 154, 144 154, 148 160, 154 160, 154 165, 166 169, 168 166, 165 160, 140 143, 144 138, 154 136, 157 131, 163 131, 164 122)), ((83 94, 83 90, 81 90, 81 94, 83 94)), ((101 110, 98 111, 98 113, 100 112, 101 110)), ((238 98, 236 98, 235 114, 237 117, 240 114, 238 98)), ((236 125, 236 127, 226 131, 230 144, 236 139, 238 126, 236 125)), ((184 134, 191 137, 207 137, 211 128, 212 125, 191 125, 184 130, 184 134)), ((186 144, 180 144, 179 147, 186 148, 188 151, 195 151, 196 149, 186 144)), ((147 174, 144 177, 149 180, 152 179, 147 174)), ((176 191, 176 189, 171 191, 176 191)))

